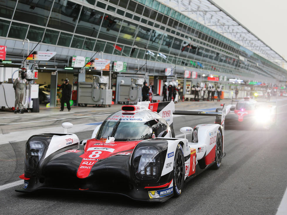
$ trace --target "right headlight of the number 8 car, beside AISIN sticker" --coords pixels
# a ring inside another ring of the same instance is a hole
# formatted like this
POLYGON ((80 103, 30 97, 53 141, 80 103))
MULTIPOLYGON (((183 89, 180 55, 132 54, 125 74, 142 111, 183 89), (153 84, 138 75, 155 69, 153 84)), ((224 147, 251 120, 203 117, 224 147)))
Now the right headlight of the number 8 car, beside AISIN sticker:
POLYGON ((141 146, 136 149, 133 167, 139 180, 155 180, 161 169, 161 156, 156 147, 141 146))

